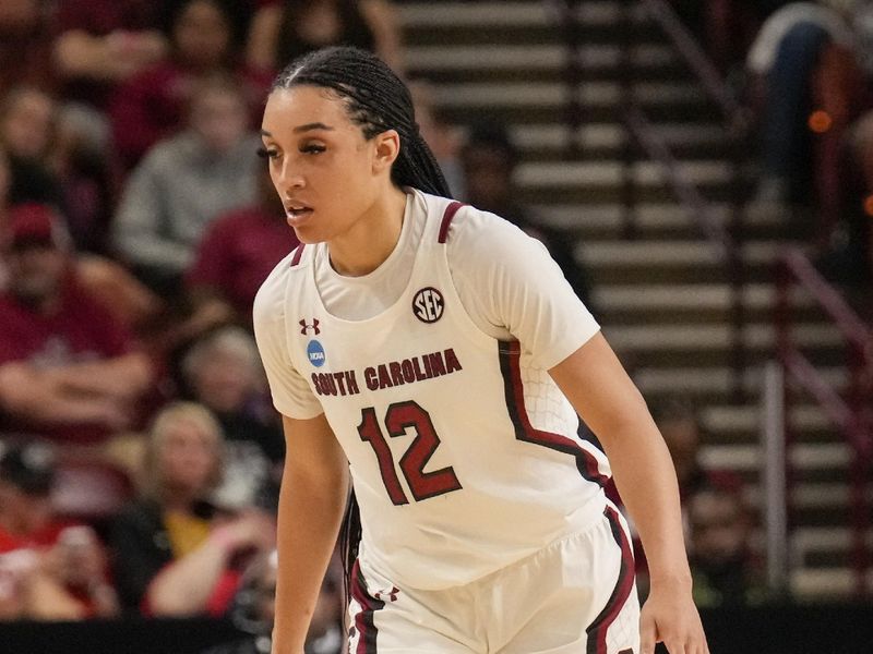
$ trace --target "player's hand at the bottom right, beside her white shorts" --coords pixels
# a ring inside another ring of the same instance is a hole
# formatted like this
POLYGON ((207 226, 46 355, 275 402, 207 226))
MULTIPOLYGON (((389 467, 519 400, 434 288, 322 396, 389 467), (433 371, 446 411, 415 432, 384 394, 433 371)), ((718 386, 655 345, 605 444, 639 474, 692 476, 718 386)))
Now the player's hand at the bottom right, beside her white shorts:
POLYGON ((655 583, 639 616, 642 654, 655 654, 662 642, 670 654, 709 654, 691 586, 681 583, 655 583))

